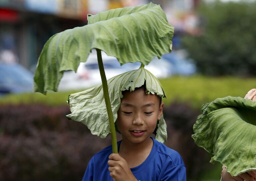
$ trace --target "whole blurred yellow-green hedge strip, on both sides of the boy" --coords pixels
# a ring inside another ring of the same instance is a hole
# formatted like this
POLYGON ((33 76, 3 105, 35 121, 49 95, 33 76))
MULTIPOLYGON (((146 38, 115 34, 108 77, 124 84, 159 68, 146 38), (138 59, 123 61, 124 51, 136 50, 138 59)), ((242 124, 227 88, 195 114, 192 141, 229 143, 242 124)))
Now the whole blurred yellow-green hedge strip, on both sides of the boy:
MULTIPOLYGON (((171 77, 160 80, 164 87, 167 99, 166 105, 173 101, 189 102, 192 107, 199 109, 203 103, 215 100, 218 97, 241 96, 255 88, 256 78, 235 77, 171 77)), ((50 106, 65 105, 70 92, 27 93, 0 97, 0 105, 4 104, 45 104, 50 106)))

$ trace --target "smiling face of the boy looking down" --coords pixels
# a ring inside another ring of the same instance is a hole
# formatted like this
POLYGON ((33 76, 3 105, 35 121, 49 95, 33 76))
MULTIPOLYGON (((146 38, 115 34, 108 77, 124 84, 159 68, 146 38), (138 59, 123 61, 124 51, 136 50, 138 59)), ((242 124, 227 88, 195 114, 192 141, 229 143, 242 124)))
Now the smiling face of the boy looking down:
POLYGON ((141 143, 150 139, 157 120, 161 118, 163 103, 159 106, 159 97, 146 94, 144 89, 125 91, 117 112, 116 125, 122 139, 132 143, 141 143))

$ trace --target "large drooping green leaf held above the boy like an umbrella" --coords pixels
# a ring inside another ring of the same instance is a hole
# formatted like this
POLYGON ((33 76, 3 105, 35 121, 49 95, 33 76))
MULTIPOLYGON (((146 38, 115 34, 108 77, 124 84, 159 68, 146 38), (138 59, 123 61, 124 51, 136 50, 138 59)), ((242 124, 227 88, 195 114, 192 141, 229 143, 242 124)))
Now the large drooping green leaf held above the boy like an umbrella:
POLYGON ((174 28, 159 5, 118 8, 88 19, 89 25, 65 30, 46 42, 35 72, 35 91, 57 91, 63 71, 76 71, 92 48, 116 57, 120 64, 145 65, 171 51, 174 28))

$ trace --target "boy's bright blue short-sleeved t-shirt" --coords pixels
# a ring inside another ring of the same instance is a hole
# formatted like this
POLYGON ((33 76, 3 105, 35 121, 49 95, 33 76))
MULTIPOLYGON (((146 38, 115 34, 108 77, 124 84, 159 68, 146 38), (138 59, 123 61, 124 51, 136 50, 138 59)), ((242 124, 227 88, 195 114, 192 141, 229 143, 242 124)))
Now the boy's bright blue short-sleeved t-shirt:
MULTIPOLYGON (((154 138, 152 150, 139 166, 131 168, 140 181, 186 181, 186 168, 180 154, 154 138)), ((119 148, 121 141, 117 142, 119 148)), ((113 181, 109 175, 107 161, 112 153, 108 146, 96 153, 88 163, 82 181, 113 181)))

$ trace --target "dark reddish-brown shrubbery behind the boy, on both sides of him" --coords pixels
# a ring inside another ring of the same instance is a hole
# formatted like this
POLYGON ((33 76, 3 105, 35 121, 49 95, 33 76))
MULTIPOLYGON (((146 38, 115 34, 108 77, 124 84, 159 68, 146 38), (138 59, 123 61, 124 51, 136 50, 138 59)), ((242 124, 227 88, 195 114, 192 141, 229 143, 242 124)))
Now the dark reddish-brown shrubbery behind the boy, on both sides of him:
MULTIPOLYGON (((1 106, 0 180, 81 180, 90 158, 110 145, 111 138, 91 135, 84 124, 65 117, 69 112, 68 106, 1 106)), ((191 138, 198 114, 184 103, 164 108, 167 146, 183 157, 187 178, 196 177, 209 161, 191 138)))

